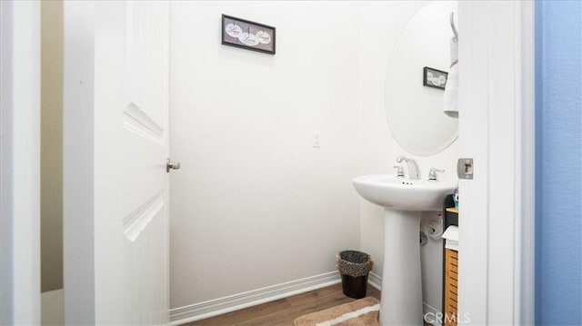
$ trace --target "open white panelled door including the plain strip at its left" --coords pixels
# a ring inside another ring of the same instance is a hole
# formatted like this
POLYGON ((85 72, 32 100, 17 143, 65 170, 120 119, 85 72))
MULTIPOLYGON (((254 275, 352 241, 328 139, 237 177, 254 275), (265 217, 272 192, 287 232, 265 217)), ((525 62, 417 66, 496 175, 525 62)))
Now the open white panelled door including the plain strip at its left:
POLYGON ((167 322, 168 51, 166 1, 65 2, 67 324, 167 322))

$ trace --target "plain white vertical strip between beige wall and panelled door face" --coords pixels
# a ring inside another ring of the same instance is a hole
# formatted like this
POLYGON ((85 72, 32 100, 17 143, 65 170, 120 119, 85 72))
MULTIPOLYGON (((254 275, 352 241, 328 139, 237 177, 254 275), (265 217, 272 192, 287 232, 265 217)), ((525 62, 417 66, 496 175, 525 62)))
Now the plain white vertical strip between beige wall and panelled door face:
POLYGON ((95 324, 95 2, 63 4, 65 324, 95 324))

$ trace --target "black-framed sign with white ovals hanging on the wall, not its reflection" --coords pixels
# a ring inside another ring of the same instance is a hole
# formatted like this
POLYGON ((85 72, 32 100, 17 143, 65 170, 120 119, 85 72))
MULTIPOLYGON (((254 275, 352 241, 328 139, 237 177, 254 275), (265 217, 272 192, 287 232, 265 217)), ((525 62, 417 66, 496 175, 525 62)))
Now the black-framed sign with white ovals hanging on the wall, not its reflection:
POLYGON ((275 54, 275 27, 224 14, 221 23, 223 45, 275 54))

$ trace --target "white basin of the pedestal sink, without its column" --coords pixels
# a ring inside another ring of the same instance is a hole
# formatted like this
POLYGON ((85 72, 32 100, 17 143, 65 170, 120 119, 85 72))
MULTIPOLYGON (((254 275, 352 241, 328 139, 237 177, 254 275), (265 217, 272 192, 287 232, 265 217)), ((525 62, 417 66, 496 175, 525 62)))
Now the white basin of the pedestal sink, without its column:
POLYGON ((409 180, 394 174, 358 176, 352 180, 368 202, 398 211, 440 211, 457 181, 409 180))

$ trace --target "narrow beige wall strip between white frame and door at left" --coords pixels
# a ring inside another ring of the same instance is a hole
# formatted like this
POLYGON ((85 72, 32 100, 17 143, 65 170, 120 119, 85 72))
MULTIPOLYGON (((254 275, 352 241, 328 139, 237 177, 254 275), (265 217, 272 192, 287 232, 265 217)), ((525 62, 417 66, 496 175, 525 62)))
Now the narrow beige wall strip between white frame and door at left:
POLYGON ((41 291, 63 288, 63 3, 41 2, 41 291))

